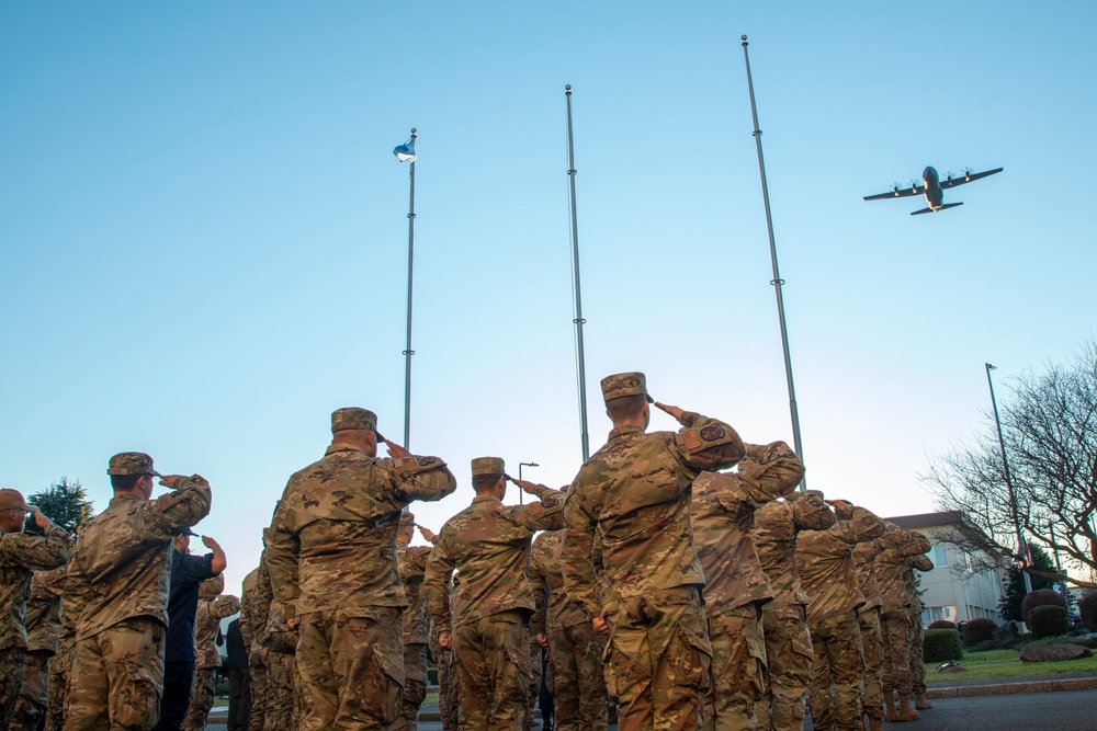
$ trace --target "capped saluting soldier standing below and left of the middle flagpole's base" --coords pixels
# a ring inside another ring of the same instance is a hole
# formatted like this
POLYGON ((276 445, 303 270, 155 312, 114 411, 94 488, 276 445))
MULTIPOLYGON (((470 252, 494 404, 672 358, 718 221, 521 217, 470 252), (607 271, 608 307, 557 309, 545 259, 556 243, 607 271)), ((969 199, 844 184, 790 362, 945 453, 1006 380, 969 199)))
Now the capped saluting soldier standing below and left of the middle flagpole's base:
POLYGON ((438 643, 453 651, 457 727, 519 731, 529 704, 529 620, 535 608, 527 557, 534 532, 561 527, 564 495, 513 480, 541 502, 508 507, 502 499, 510 478, 501 459, 473 459, 472 473, 476 496, 442 526, 423 591, 438 643), (454 570, 461 584, 451 605, 445 584, 454 570))

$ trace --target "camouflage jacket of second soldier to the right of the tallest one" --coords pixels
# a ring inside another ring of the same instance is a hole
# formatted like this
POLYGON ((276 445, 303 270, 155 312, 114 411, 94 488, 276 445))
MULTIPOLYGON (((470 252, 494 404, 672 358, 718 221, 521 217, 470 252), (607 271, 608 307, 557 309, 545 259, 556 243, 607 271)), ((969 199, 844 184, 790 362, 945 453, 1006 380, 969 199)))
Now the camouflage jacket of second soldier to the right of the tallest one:
POLYGON ((766 503, 755 511, 751 536, 762 571, 769 579, 773 601, 767 610, 806 605, 796 569, 796 535, 801 530, 825 530, 834 525, 834 511, 813 494, 766 503))

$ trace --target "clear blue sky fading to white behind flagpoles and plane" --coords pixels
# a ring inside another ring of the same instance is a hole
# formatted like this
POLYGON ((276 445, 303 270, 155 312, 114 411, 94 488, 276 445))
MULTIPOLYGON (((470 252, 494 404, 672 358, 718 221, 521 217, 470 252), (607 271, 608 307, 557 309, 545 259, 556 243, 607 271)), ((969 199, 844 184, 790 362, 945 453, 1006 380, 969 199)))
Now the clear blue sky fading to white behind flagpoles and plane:
MULTIPOLYGON (((214 490, 227 585, 329 414, 410 448, 580 450, 564 85, 573 87, 591 450, 602 376, 792 441, 739 36, 765 133, 807 483, 881 515, 986 427, 995 388, 1094 335, 1097 7, 3 3, 0 486, 98 510, 147 452, 214 490), (866 203, 926 165, 1005 171, 866 203)), ((661 413, 652 429, 677 429, 661 413)), ((511 493, 509 500, 517 502, 511 493)))

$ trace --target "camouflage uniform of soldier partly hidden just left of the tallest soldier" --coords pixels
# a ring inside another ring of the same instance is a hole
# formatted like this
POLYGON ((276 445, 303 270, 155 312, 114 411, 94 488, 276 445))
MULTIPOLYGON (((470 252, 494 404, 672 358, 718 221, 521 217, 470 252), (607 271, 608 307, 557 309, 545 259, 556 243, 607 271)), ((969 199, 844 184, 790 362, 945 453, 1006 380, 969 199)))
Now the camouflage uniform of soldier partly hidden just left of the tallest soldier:
POLYGON ((548 636, 550 689, 556 731, 606 731, 602 669, 606 636, 595 632, 590 616, 564 590, 561 549, 566 533, 542 533, 533 541, 530 584, 538 610, 530 621, 530 631, 534 636, 548 636))

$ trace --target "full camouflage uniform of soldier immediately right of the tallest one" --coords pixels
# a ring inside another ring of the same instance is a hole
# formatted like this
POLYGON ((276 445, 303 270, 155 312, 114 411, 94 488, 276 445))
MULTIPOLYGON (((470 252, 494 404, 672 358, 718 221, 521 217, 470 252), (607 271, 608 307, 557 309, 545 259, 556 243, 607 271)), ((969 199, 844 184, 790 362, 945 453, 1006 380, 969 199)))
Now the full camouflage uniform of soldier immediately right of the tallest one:
POLYGON ((761 607, 773 598, 750 540, 755 511, 793 490, 804 465, 784 442, 747 444, 737 472, 693 481, 693 541, 704 571, 704 614, 712 642, 712 684, 704 731, 756 729, 766 675, 761 607))

